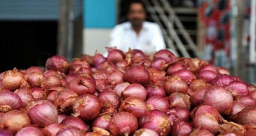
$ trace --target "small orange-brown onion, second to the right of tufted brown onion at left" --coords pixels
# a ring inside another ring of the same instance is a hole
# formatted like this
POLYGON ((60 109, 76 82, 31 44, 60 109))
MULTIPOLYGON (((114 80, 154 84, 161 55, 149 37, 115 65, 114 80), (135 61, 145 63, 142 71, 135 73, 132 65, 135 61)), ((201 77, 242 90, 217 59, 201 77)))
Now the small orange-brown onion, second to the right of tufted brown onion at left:
POLYGON ((55 87, 61 87, 62 83, 61 80, 57 77, 46 77, 44 78, 42 82, 42 88, 44 89, 50 89, 55 87))

